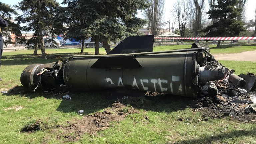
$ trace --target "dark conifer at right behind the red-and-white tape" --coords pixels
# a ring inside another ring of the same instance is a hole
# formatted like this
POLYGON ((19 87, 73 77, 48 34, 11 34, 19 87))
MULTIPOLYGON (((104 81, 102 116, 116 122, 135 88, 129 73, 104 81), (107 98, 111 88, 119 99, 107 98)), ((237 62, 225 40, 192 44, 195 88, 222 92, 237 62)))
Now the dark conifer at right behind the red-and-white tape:
MULTIPOLYGON (((233 37, 239 36, 244 31, 244 23, 236 20, 237 15, 241 12, 241 8, 237 8, 238 0, 217 0, 217 5, 212 5, 213 10, 209 10, 208 19, 219 19, 218 22, 207 26, 203 31, 207 32, 205 37, 233 37)), ((218 41, 217 47, 220 46, 218 41)))

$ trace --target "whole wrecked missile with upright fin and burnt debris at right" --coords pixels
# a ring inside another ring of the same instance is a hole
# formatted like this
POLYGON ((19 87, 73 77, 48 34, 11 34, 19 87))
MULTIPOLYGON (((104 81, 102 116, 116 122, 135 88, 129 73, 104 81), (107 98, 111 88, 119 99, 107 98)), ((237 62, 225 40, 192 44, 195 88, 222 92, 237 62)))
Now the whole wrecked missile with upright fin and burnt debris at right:
POLYGON ((198 98, 198 108, 217 104, 239 107, 239 113, 255 112, 256 98, 251 92, 255 90, 254 74, 236 75, 219 63, 204 43, 194 43, 189 49, 152 52, 153 39, 128 37, 107 55, 79 55, 56 63, 32 64, 23 70, 21 83, 31 91, 60 87, 75 91, 151 91, 198 98))

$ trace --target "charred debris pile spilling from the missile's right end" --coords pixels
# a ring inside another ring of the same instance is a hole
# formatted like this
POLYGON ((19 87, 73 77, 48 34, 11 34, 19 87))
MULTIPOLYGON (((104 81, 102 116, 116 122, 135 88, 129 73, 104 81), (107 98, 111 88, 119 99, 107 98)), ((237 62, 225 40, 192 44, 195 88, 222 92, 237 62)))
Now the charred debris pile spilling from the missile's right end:
POLYGON ((256 120, 256 82, 252 73, 235 75, 228 70, 221 80, 208 82, 198 93, 197 103, 193 108, 202 111, 208 117, 220 118, 231 116, 243 122, 256 120), (217 93, 209 91, 214 83, 217 93))

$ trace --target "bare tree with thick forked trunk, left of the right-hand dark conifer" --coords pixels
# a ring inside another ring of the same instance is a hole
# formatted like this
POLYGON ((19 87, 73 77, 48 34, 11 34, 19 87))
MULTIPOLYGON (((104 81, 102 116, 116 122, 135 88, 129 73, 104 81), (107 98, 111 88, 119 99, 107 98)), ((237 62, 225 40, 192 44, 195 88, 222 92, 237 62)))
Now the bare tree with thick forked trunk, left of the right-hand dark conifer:
POLYGON ((200 30, 203 27, 203 16, 204 16, 204 0, 191 0, 191 15, 192 15, 192 26, 195 37, 200 36, 200 30))

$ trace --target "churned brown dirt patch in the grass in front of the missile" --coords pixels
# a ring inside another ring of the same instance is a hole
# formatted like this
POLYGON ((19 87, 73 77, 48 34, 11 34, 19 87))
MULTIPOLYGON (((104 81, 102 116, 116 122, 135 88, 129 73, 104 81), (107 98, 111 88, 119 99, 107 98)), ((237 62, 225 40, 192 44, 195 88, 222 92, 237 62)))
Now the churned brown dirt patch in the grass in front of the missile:
MULTIPOLYGON (((66 142, 77 141, 84 133, 95 135, 97 131, 109 128, 109 123, 123 120, 127 114, 138 113, 137 109, 131 106, 125 106, 121 103, 113 103, 110 109, 94 115, 86 115, 82 119, 67 121, 66 127, 61 127, 61 134, 57 138, 64 138, 66 142)), ((51 133, 55 133, 52 129, 51 133)))

